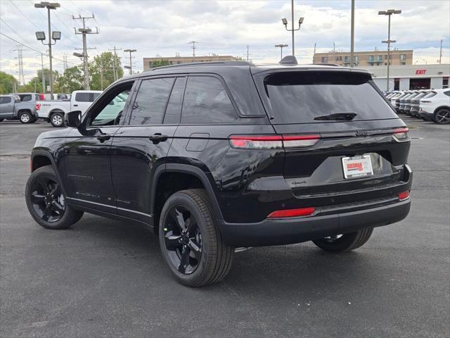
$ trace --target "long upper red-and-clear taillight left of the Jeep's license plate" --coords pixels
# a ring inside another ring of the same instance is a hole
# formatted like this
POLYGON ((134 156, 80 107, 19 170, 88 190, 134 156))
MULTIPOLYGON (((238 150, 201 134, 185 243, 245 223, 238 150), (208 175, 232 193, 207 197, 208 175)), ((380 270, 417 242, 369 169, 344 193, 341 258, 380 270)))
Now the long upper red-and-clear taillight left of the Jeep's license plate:
POLYGON ((268 136, 241 136, 229 137, 233 148, 243 149, 278 149, 278 148, 304 148, 313 146, 319 141, 319 135, 268 135, 268 136))

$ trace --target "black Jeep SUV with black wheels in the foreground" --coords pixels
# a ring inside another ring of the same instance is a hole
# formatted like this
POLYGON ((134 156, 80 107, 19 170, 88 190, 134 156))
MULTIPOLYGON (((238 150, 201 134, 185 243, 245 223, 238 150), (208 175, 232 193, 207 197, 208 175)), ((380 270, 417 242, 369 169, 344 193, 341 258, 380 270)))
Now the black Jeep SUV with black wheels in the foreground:
POLYGON ((242 61, 118 80, 31 156, 27 206, 65 229, 84 212, 159 233, 176 280, 217 282, 235 248, 363 245, 409 213, 408 129, 363 70, 242 61))

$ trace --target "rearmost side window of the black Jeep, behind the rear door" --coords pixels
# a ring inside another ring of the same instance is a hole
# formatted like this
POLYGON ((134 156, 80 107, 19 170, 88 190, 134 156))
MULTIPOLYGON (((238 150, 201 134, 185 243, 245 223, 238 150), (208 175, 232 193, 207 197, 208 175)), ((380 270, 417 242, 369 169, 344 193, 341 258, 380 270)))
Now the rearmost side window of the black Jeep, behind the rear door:
POLYGON ((181 123, 232 123, 237 118, 219 79, 211 76, 188 78, 181 123))

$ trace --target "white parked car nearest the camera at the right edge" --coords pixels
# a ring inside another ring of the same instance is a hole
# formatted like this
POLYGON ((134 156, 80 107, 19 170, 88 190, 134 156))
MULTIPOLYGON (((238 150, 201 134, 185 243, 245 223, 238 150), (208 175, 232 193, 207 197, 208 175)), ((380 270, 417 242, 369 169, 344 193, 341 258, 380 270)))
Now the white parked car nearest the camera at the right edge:
POLYGON ((420 99, 419 115, 439 125, 450 123, 450 89, 433 89, 433 94, 420 99))

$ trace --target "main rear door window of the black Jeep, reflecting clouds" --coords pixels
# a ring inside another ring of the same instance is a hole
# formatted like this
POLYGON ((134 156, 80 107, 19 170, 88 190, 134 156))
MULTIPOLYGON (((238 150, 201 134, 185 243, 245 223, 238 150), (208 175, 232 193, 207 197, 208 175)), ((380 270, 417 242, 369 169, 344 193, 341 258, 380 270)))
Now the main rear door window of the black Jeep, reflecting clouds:
POLYGON ((173 84, 173 77, 143 80, 136 94, 129 124, 158 125, 162 123, 173 84))

